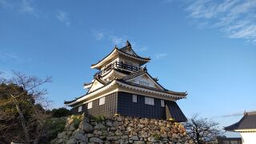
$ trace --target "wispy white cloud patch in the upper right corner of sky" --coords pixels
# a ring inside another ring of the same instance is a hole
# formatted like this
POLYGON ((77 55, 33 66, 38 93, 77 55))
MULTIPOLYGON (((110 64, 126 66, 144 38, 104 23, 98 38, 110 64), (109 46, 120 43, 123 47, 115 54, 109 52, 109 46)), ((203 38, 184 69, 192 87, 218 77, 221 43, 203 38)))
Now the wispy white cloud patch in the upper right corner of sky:
POLYGON ((218 28, 227 38, 243 38, 256 43, 256 1, 195 0, 186 4, 188 17, 199 28, 218 28))

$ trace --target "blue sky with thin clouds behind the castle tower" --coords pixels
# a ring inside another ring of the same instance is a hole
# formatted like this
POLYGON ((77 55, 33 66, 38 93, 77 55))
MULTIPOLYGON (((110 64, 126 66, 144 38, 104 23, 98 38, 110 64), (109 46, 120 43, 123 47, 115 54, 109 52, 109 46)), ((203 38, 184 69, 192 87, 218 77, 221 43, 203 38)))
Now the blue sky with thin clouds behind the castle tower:
POLYGON ((228 126, 256 110, 256 1, 0 0, 0 71, 40 78, 54 107, 85 94, 90 65, 129 39, 188 118, 228 126))

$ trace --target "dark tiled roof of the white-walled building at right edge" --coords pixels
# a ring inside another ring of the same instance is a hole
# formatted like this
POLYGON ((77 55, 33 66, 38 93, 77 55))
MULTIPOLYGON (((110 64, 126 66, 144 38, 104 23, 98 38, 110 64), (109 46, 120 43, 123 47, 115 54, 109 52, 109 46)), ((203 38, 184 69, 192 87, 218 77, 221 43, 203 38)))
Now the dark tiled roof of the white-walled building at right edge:
POLYGON ((256 111, 245 112, 244 116, 239 122, 236 122, 231 126, 226 126, 224 130, 229 130, 229 131, 255 130, 256 131, 256 111))

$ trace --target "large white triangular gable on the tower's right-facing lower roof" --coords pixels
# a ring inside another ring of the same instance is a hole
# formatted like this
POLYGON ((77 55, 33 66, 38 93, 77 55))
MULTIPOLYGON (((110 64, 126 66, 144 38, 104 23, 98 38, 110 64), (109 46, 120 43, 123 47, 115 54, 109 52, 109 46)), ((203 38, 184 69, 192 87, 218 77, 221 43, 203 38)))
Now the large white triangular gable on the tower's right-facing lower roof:
POLYGON ((138 77, 131 78, 127 80, 127 82, 133 82, 138 85, 149 86, 149 87, 154 87, 156 89, 163 90, 162 86, 159 86, 159 84, 155 82, 154 79, 152 79, 149 74, 146 74, 146 73, 139 75, 138 77))

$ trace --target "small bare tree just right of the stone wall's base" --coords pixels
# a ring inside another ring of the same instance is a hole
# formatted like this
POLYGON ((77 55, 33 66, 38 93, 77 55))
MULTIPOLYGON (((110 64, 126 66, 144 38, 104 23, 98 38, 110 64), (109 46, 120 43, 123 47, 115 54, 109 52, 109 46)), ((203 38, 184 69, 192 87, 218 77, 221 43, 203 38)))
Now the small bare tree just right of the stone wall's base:
POLYGON ((208 118, 198 118, 198 114, 194 114, 186 122, 185 127, 187 134, 197 144, 214 141, 218 135, 222 134, 218 129, 218 122, 213 122, 208 118))

